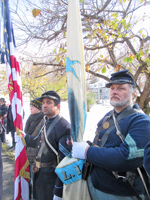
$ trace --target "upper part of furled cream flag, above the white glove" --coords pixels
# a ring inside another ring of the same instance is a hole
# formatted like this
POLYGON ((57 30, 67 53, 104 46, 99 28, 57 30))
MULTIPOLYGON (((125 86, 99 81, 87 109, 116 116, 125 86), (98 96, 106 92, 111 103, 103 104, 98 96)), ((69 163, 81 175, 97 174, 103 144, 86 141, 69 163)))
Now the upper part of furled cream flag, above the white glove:
POLYGON ((74 141, 81 142, 86 124, 86 85, 79 0, 68 1, 66 66, 72 135, 74 141))

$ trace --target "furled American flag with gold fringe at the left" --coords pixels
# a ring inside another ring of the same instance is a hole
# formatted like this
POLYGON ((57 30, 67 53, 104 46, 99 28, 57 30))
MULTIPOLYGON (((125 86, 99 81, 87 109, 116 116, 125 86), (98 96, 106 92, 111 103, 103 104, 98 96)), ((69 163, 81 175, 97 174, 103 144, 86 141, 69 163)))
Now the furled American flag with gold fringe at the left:
MULTIPOLYGON (((3 0, 4 43, 6 52, 6 73, 10 104, 16 132, 21 135, 23 127, 23 99, 19 63, 15 57, 15 40, 10 17, 9 0, 3 0)), ((22 140, 15 147, 15 183, 14 200, 28 200, 29 162, 27 159, 25 141, 22 140)))

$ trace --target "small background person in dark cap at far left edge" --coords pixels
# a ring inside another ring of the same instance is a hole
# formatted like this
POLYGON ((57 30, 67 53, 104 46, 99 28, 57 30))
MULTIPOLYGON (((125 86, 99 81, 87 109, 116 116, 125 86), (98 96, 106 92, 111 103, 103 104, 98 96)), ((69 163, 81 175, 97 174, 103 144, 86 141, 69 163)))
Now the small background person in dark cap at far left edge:
POLYGON ((6 141, 7 132, 7 111, 6 101, 4 98, 0 98, 0 137, 1 141, 6 141))

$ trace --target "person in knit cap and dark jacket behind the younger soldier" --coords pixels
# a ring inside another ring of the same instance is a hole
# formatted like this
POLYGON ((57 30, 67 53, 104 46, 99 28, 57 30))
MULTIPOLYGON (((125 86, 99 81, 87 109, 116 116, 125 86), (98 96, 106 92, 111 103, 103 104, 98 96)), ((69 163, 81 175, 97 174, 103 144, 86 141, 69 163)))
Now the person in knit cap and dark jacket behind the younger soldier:
MULTIPOLYGON (((30 102, 31 114, 26 121, 24 129, 27 135, 37 136, 41 126, 44 124, 44 114, 41 111, 41 109, 42 109, 42 103, 39 100, 39 98, 36 98, 30 102)), ((36 159, 36 149, 32 147, 27 147, 26 152, 30 164, 29 199, 31 199, 33 191, 32 167, 36 159)))

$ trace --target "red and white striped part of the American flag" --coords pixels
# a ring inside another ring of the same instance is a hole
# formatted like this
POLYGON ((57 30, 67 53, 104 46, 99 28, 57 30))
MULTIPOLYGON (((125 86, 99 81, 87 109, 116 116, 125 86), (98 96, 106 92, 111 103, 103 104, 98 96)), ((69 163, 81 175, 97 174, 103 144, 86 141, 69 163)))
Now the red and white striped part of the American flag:
MULTIPOLYGON (((14 56, 14 45, 9 44, 10 63, 6 64, 7 82, 9 90, 9 98, 11 102, 13 121, 16 132, 19 134, 23 126, 23 99, 20 67, 14 56)), ((26 154, 26 148, 20 138, 15 146, 15 183, 14 183, 14 200, 29 199, 29 166, 26 154)))

